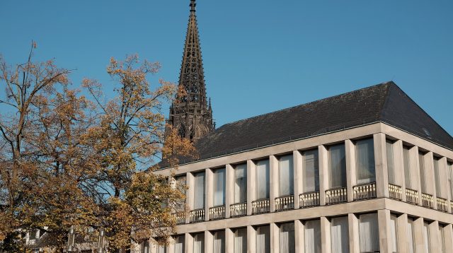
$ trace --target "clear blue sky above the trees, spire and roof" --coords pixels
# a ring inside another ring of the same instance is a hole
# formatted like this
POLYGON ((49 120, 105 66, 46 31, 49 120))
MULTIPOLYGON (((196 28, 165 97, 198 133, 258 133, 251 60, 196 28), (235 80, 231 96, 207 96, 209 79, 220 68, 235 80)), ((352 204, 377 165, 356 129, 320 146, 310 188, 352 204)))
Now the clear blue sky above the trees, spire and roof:
MULTIPOLYGON (((176 82, 188 4, 2 0, 0 53, 25 61, 35 40, 74 86, 137 53, 176 82)), ((217 126, 393 80, 453 134, 452 0, 197 0, 197 17, 217 126)))

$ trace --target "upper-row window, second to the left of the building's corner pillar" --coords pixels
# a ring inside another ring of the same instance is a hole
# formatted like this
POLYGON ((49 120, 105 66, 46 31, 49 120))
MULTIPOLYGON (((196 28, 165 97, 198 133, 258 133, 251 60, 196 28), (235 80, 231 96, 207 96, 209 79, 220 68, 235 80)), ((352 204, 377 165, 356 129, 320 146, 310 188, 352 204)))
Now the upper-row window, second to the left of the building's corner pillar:
POLYGON ((331 188, 346 187, 345 144, 341 143, 329 147, 328 158, 331 188))

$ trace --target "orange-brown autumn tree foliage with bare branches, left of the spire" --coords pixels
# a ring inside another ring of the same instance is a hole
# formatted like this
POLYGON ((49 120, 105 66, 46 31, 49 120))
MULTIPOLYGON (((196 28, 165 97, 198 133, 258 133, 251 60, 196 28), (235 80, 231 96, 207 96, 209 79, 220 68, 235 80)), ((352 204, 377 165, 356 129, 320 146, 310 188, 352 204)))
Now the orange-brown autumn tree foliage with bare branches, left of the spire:
POLYGON ((60 252, 71 226, 88 242, 97 237, 88 228, 103 228, 110 249, 151 236, 165 242, 184 195, 149 171, 195 153, 165 125, 162 105, 176 86, 151 85, 159 64, 134 55, 110 59, 108 86, 85 79, 71 88, 71 71, 34 62, 34 50, 14 67, 0 57, 0 247, 25 251, 23 233, 40 229, 60 252))

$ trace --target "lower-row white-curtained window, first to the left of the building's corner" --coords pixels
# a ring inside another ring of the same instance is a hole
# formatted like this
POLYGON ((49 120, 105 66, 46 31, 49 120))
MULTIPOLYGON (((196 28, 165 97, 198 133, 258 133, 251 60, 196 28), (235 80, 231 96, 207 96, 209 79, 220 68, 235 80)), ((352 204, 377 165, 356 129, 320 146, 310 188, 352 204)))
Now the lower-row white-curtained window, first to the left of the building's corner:
POLYGON ((360 252, 379 252, 377 213, 362 214, 359 218, 360 252))

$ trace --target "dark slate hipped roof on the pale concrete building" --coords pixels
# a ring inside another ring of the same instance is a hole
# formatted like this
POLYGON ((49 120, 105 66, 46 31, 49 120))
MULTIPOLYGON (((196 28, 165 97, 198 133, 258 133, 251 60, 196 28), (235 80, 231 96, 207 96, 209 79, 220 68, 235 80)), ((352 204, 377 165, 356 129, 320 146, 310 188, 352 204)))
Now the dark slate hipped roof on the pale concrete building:
POLYGON ((453 150, 452 136, 394 82, 224 124, 195 146, 200 159, 207 159, 374 122, 453 150))

